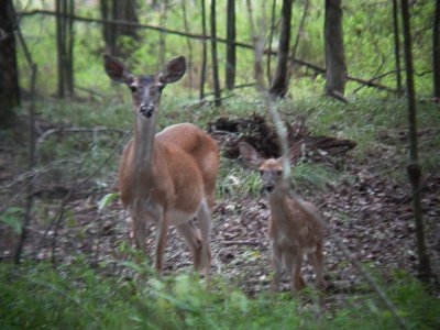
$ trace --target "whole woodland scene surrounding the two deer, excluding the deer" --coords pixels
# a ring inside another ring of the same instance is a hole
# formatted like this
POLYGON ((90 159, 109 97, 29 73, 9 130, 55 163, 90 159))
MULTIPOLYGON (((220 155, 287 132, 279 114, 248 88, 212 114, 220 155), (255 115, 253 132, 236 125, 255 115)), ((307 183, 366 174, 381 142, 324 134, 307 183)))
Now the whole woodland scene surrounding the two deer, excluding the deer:
POLYGON ((439 99, 440 1, 1 1, 0 323, 438 328, 439 99), (158 127, 221 146, 210 290, 174 231, 161 280, 131 246, 117 168, 132 110, 105 53, 139 74, 187 57, 158 127), (268 289, 270 210, 237 154, 278 155, 256 87, 307 142, 293 180, 328 221, 323 304, 308 267, 300 297, 268 289))

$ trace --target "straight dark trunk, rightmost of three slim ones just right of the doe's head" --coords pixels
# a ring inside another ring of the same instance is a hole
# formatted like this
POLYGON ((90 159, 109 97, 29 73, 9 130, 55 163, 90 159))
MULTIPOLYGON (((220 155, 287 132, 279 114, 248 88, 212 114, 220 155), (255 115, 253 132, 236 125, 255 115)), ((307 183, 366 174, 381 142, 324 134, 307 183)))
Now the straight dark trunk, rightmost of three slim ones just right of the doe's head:
POLYGON ((232 89, 235 82, 235 1, 228 0, 227 8, 227 65, 226 65, 226 87, 232 89))

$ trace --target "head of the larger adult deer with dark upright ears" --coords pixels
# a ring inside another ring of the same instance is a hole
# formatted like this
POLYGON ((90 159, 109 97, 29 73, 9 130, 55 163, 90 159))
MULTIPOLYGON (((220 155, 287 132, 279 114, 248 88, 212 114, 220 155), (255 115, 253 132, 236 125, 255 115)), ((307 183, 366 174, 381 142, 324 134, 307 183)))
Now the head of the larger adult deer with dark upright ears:
POLYGON ((185 56, 172 58, 162 72, 154 75, 133 75, 118 58, 103 55, 107 75, 117 82, 125 84, 133 98, 134 111, 151 118, 158 109, 162 90, 167 84, 178 81, 185 74, 185 56))

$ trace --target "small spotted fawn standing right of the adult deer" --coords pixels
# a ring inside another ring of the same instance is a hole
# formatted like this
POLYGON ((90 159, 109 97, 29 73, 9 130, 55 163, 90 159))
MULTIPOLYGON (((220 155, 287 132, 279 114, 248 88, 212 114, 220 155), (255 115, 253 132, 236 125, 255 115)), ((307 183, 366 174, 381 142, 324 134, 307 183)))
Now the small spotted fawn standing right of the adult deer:
MULTIPOLYGON (((307 254, 316 273, 318 288, 324 288, 323 279, 323 227, 317 208, 296 196, 283 180, 282 158, 263 158, 245 142, 239 144, 243 160, 260 169, 263 188, 268 194, 271 207, 270 238, 274 266, 273 289, 279 289, 283 264, 290 276, 293 292, 305 286, 300 275, 302 258, 307 254)), ((301 143, 289 150, 290 162, 301 151, 301 143)))

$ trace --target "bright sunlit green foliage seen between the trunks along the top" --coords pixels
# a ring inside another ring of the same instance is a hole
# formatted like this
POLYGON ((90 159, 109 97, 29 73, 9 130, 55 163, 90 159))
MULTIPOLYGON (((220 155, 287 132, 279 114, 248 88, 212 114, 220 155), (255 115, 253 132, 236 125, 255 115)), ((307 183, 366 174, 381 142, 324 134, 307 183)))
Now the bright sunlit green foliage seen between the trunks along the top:
MULTIPOLYGON (((50 3, 42 1, 15 1, 18 10, 47 9, 52 10, 50 3)), ((297 57, 309 63, 324 67, 324 41, 323 41, 323 20, 324 7, 321 0, 310 0, 308 14, 301 31, 297 57)), ((226 37, 226 1, 217 4, 217 33, 219 37, 226 37)), ((292 18, 292 44, 296 42, 299 23, 302 18, 305 1, 295 1, 292 18)), ((276 19, 280 15, 282 2, 276 6, 276 19)), ((415 1, 411 3, 411 26, 414 40, 414 58, 416 75, 416 88, 422 94, 431 92, 432 75, 431 70, 431 22, 435 13, 433 1, 415 1), (428 74, 427 74, 428 73, 428 74)), ((265 6, 265 31, 268 31, 272 6, 265 6)), ((201 13, 198 3, 187 2, 187 20, 189 22, 189 32, 201 34, 201 13)), ((263 16, 263 6, 253 3, 253 13, 258 26, 263 16)), ((96 1, 76 6, 76 14, 84 16, 99 16, 99 6, 96 1)), ((207 8, 209 15, 209 8, 207 8)), ((141 23, 160 25, 162 11, 152 10, 150 4, 142 2, 138 7, 138 15, 141 23)), ((209 21, 209 20, 208 20, 209 21)), ((38 64, 40 75, 37 89, 43 95, 51 95, 56 91, 56 37, 54 18, 50 15, 30 15, 23 16, 20 21, 21 31, 25 36, 33 61, 38 64)), ((176 31, 185 31, 182 6, 169 6, 167 9, 166 28, 176 31)), ((74 47, 74 72, 75 85, 82 88, 76 89, 81 96, 90 97, 84 88, 103 94, 109 90, 109 79, 103 74, 101 54, 105 52, 102 30, 100 24, 90 24, 76 21, 75 47, 74 47)), ((209 29, 208 29, 209 31, 209 29)), ((344 48, 350 75, 370 79, 395 70, 394 58, 394 36, 392 19, 392 1, 348 1, 343 6, 343 31, 344 48)), ((209 33, 209 32, 208 32, 209 33)), ((268 32, 267 32, 268 34, 268 32)), ((245 1, 237 2, 237 35, 238 41, 252 44, 253 40, 250 33, 249 11, 245 1)), ((139 30, 139 40, 122 36, 118 44, 124 53, 125 62, 133 73, 157 72, 158 52, 157 44, 161 37, 160 32, 152 30, 139 30)), ((278 45, 279 26, 275 26, 272 48, 276 50, 278 45)), ((266 35, 266 41, 268 40, 266 35)), ((188 41, 183 36, 166 34, 165 57, 184 54, 189 56, 188 41)), ((190 89, 193 94, 197 92, 199 73, 201 65, 201 40, 189 40, 191 46, 191 75, 189 73, 184 77, 180 87, 190 89), (191 76, 191 80, 190 80, 191 76)), ((218 44, 219 72, 221 77, 226 70, 226 45, 218 44)), ((209 57, 209 56, 208 56, 209 57)), ((248 48, 238 48, 237 85, 253 82, 253 52, 248 48)), ((264 58, 266 62, 266 58, 264 58)), ((276 57, 272 57, 272 73, 274 72, 276 57)), ((19 67, 21 86, 29 86, 30 73, 22 51, 19 53, 19 67)), ((266 65, 264 65, 266 68, 266 65)), ((208 61, 208 77, 210 77, 210 61, 208 61)), ((266 74, 266 73, 265 73, 266 74)), ((316 97, 316 94, 322 94, 323 78, 316 75, 304 66, 295 66, 293 69, 294 80, 290 91, 295 98, 316 97)), ((223 79, 221 79, 223 80, 223 79)), ((376 79, 376 82, 395 87, 396 77, 388 74, 376 79)), ((210 78, 207 81, 208 89, 211 86, 210 78)), ((358 84, 348 84, 346 90, 350 95, 359 87, 358 84)), ((376 94, 375 89, 362 88, 360 94, 376 94)), ((112 91, 113 94, 113 91, 112 91)), ((94 96, 95 97, 95 96, 94 96)))

